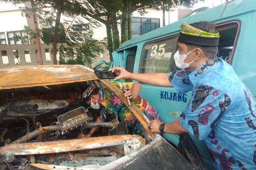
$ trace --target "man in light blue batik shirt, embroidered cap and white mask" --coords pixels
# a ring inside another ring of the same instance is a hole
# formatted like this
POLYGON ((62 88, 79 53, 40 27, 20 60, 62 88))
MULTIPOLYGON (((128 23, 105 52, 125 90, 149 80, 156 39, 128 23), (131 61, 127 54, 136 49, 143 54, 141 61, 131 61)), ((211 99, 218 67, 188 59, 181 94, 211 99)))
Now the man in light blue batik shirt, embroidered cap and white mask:
POLYGON ((182 23, 174 54, 182 70, 169 74, 112 71, 118 79, 134 79, 155 86, 192 91, 185 111, 172 123, 153 120, 152 132, 190 132, 204 140, 217 169, 256 169, 256 103, 234 69, 217 58, 219 33, 209 22, 182 23))

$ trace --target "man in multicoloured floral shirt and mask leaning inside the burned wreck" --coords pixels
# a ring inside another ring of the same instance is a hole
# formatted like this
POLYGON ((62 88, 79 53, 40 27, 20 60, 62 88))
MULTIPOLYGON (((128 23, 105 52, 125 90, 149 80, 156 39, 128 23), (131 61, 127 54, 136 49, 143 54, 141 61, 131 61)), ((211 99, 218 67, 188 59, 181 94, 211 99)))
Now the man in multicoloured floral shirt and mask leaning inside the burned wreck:
MULTIPOLYGON (((113 83, 121 88, 120 82, 113 83)), ((133 99, 136 106, 148 117, 149 120, 160 120, 155 108, 148 104, 148 102, 138 96, 137 94, 141 90, 141 84, 133 82, 125 82, 122 85, 128 89, 124 93, 129 99, 133 99), (132 90, 130 90, 132 89, 132 90)), ((83 101, 89 104, 94 109, 100 109, 100 116, 96 119, 96 122, 104 122, 109 115, 115 114, 119 120, 127 120, 128 127, 137 134, 142 135, 142 125, 138 122, 137 118, 132 114, 130 109, 115 95, 113 92, 109 91, 107 88, 101 89, 97 88, 95 85, 89 85, 82 95, 83 101)), ((91 128, 90 132, 83 137, 91 137, 91 135, 97 131, 99 128, 91 128)))

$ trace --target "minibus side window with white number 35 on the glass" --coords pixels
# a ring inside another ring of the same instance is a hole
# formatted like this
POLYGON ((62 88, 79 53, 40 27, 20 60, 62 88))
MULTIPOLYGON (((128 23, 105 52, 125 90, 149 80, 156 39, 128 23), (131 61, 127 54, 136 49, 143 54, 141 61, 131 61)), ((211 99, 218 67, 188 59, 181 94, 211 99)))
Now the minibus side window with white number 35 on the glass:
POLYGON ((144 45, 139 65, 140 73, 174 71, 173 55, 176 52, 178 37, 169 37, 144 45))

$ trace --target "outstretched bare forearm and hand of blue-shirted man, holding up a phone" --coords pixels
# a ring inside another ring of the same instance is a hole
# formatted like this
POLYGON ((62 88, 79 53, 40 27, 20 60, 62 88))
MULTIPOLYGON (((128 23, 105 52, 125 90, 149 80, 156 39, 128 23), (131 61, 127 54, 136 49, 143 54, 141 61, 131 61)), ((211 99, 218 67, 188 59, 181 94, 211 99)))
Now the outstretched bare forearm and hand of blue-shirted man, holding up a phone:
POLYGON ((129 71, 126 71, 122 67, 115 67, 111 69, 112 72, 115 72, 118 77, 115 80, 119 79, 133 79, 141 83, 153 85, 153 86, 162 86, 162 87, 172 87, 170 81, 167 78, 167 73, 146 73, 146 74, 135 74, 129 71))

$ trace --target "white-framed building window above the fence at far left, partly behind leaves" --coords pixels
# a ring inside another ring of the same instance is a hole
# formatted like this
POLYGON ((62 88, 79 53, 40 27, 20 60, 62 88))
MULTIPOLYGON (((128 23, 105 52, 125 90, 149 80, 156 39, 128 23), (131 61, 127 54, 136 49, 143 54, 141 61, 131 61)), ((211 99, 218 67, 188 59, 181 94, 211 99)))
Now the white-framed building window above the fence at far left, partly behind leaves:
POLYGON ((28 44, 28 35, 26 31, 9 31, 7 32, 8 44, 28 44))

